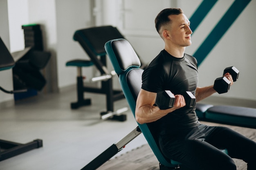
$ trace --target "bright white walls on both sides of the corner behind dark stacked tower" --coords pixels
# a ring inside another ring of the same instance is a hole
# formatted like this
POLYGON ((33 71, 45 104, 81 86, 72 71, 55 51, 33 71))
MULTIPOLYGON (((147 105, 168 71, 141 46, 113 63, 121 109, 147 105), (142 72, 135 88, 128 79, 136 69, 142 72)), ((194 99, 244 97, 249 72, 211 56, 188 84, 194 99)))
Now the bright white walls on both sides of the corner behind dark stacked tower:
POLYGON ((52 53, 42 73, 47 79, 44 92, 58 91, 56 73, 56 16, 54 0, 8 0, 11 52, 24 49, 24 24, 40 24, 45 51, 52 53))

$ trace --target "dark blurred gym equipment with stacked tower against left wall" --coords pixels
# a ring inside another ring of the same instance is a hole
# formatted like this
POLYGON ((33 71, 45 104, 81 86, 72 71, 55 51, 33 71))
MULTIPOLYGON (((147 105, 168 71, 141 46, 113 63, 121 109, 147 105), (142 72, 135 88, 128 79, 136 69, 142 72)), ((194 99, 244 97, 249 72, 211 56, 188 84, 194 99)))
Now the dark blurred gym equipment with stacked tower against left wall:
POLYGON ((43 37, 39 24, 22 25, 25 49, 12 53, 15 61, 13 67, 13 89, 26 88, 26 93, 14 93, 14 99, 23 99, 37 95, 43 90, 46 79, 41 70, 50 60, 51 53, 43 51, 43 37))

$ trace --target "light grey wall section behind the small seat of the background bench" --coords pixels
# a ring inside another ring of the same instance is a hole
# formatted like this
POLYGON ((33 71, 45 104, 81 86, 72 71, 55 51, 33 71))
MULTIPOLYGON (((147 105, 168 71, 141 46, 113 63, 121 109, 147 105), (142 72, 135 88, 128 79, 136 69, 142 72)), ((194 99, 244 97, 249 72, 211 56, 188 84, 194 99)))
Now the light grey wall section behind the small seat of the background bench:
MULTIPOLYGON (((76 30, 92 26, 91 4, 89 0, 56 0, 57 25, 57 67, 59 88, 76 83, 76 67, 65 63, 74 59, 88 59, 78 42, 73 40, 76 30)), ((92 67, 83 68, 88 81, 92 77, 92 67)))

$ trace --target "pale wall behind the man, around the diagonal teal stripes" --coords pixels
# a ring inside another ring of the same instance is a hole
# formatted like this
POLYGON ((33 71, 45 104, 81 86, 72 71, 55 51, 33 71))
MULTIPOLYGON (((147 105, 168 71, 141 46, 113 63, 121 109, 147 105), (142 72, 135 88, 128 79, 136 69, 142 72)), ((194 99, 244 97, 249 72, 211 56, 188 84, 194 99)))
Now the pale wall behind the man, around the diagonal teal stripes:
MULTIPOLYGON (((202 0, 126 0, 123 4, 123 14, 119 30, 123 31, 142 59, 150 62, 164 44, 157 35, 154 19, 157 13, 167 7, 182 8, 188 18, 198 8, 202 0), (169 3, 169 4, 168 4, 169 3), (156 11, 157 10, 157 11, 156 11), (154 30, 154 31, 153 31, 154 30)), ((198 29, 192 34, 192 45, 186 48, 186 53, 193 55, 203 40, 226 13, 234 0, 218 1, 198 29)), ((236 66, 240 71, 239 79, 228 93, 219 97, 256 100, 256 78, 254 73, 254 49, 256 34, 254 16, 256 0, 252 0, 236 21, 231 25, 211 53, 199 66, 199 86, 212 85, 217 77, 221 77, 224 68, 236 66)), ((193 23, 191 23, 193 25, 193 23)))

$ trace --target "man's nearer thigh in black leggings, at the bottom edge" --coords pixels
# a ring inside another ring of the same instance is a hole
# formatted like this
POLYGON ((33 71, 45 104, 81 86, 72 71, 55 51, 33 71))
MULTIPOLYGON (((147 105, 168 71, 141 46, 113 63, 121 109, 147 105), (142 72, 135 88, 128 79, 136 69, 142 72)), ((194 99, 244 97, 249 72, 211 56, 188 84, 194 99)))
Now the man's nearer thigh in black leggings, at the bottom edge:
POLYGON ((185 139, 161 144, 164 155, 196 170, 233 170, 234 161, 218 148, 203 140, 185 139), (222 169, 221 168, 221 169, 222 169))

